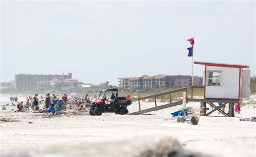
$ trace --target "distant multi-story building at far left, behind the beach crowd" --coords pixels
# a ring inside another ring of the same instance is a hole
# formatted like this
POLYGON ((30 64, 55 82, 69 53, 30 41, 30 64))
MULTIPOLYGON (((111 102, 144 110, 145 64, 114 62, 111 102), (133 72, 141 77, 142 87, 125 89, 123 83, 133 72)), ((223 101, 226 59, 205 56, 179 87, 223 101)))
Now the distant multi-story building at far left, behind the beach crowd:
MULTIPOLYGON (((50 81, 52 79, 58 79, 64 81, 65 79, 71 79, 72 73, 68 74, 16 74, 15 75, 15 88, 18 90, 31 90, 37 88, 38 82, 50 81)), ((43 86, 48 86, 45 83, 43 86)), ((42 86, 42 84, 40 85, 42 86)))

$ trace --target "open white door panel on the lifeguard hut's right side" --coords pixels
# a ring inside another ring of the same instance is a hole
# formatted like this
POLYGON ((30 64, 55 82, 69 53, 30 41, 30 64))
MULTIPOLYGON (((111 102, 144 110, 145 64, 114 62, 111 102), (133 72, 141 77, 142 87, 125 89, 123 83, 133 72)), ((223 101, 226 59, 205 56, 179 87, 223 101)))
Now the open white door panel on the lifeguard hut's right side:
POLYGON ((242 98, 250 97, 250 74, 251 70, 242 70, 242 98))

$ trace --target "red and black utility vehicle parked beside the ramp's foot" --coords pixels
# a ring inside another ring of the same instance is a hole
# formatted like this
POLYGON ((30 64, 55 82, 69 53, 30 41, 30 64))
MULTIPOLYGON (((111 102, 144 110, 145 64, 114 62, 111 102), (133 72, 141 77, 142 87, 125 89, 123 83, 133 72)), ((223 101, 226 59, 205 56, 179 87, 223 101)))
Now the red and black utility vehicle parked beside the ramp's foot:
POLYGON ((130 94, 125 92, 126 97, 118 97, 117 88, 109 88, 100 91, 97 100, 90 106, 90 115, 102 115, 103 112, 115 112, 116 114, 127 114, 127 106, 131 105, 130 94))

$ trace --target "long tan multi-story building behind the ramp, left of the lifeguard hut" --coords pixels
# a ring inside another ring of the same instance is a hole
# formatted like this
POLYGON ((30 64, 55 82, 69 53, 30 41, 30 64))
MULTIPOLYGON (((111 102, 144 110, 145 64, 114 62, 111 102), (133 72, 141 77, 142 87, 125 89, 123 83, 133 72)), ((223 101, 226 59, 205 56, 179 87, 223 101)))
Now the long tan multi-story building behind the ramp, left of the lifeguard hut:
MULTIPOLYGON (((192 84, 191 76, 144 76, 118 78, 119 86, 126 90, 154 89, 160 87, 188 87, 192 84)), ((202 85, 203 78, 194 76, 194 85, 202 85)))

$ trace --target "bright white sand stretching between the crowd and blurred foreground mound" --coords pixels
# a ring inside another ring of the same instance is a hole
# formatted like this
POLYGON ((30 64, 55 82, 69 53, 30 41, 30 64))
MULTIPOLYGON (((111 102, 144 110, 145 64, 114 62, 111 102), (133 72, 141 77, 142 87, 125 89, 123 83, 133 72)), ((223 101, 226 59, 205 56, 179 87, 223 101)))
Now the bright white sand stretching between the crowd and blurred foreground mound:
MULTIPOLYGON (((88 112, 67 112, 60 116, 14 113, 10 110, 16 106, 7 106, 7 110, 0 111, 1 152, 10 155, 14 150, 17 153, 49 146, 90 146, 143 138, 153 141, 172 136, 188 151, 212 156, 255 156, 256 123, 239 121, 240 118, 255 116, 255 95, 247 102, 251 104, 243 106, 241 114, 233 118, 220 117, 217 111, 211 117, 201 116, 198 125, 171 120, 171 112, 181 106, 150 112, 149 115, 103 113, 102 116, 90 116, 88 112)), ((144 109, 153 105, 142 104, 144 109)), ((187 106, 200 107, 200 103, 187 106)), ((133 102, 128 109, 130 113, 138 111, 138 103, 133 102)))

